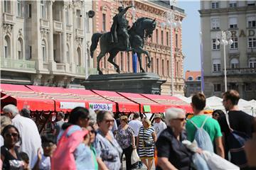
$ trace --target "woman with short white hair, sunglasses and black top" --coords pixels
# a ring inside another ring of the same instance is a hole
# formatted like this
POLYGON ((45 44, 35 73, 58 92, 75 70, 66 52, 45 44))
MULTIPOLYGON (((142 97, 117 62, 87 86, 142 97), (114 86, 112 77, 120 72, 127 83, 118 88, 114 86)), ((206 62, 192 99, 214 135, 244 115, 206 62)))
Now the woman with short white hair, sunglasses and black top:
POLYGON ((185 112, 181 108, 169 108, 165 118, 167 128, 156 141, 156 169, 191 169, 193 153, 182 144, 186 140, 185 112))

